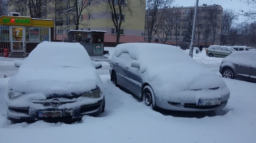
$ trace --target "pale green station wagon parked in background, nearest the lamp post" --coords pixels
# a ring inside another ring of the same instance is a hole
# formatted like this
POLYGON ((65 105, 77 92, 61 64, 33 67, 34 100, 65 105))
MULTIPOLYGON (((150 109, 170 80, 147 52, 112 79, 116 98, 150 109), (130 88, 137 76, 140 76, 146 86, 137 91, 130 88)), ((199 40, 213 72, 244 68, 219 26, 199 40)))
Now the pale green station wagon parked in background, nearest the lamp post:
POLYGON ((231 53, 236 52, 235 49, 228 46, 211 45, 208 47, 206 55, 209 57, 226 57, 231 53))

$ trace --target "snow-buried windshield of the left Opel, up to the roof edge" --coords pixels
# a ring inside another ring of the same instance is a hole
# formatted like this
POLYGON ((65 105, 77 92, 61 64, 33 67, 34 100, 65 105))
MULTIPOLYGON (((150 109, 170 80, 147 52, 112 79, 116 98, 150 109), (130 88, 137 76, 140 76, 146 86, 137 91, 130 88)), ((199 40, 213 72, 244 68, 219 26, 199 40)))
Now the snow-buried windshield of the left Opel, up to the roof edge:
POLYGON ((23 67, 47 68, 88 67, 90 57, 79 43, 41 43, 29 54, 23 67), (58 44, 58 45, 56 45, 58 44))

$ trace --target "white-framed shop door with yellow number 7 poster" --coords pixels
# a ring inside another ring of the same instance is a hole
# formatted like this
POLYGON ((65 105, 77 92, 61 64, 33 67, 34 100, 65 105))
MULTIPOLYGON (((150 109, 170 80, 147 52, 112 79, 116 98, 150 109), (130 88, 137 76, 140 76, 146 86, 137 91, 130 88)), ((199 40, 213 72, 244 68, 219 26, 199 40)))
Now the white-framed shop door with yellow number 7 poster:
POLYGON ((25 52, 25 27, 10 26, 10 39, 11 52, 25 52))

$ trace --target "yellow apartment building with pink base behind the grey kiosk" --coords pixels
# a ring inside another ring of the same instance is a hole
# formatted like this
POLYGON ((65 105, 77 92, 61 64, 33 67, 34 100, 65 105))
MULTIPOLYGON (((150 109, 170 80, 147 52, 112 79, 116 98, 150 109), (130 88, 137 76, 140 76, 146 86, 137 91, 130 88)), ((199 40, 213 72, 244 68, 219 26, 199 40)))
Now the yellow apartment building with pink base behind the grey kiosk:
MULTIPOLYGON (((24 0, 20 0, 24 1, 24 0)), ((123 1, 123 0, 122 0, 123 1)), ((142 42, 144 41, 144 27, 145 27, 145 0, 144 4, 138 0, 130 0, 130 10, 131 13, 126 10, 123 12, 123 16, 120 16, 122 21, 121 25, 121 35, 119 43, 128 43, 128 42, 142 42)), ((52 1, 53 2, 53 1, 52 1)), ((79 0, 80 4, 83 3, 83 0, 79 0)), ((117 2, 117 0, 115 0, 117 2)), ((126 1, 123 1, 123 4, 126 4, 126 1)), ((66 3, 60 3, 56 5, 56 19, 53 3, 46 3, 46 19, 53 19, 55 23, 54 30, 54 39, 56 41, 67 41, 67 33, 69 30, 75 30, 76 26, 72 25, 75 22, 75 15, 65 15, 63 12, 70 8, 75 7, 74 3, 69 3, 67 0, 66 3)), ((104 45, 105 46, 115 46, 116 34, 115 27, 112 21, 111 13, 106 9, 107 3, 104 1, 99 1, 97 3, 91 2, 86 7, 88 10, 84 9, 81 13, 79 20, 79 29, 78 30, 101 30, 107 31, 104 36, 104 45)), ((9 12, 18 12, 21 16, 30 16, 29 8, 24 2, 17 6, 17 0, 8 1, 8 10, 9 12)))

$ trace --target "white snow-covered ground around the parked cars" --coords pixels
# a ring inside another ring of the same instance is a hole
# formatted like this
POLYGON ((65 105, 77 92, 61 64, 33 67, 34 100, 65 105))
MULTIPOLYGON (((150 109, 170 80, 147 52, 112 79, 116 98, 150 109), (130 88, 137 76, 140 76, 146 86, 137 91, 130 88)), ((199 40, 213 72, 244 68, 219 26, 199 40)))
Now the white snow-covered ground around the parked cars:
MULTIPOLYGON (((105 50, 109 50, 109 56, 91 57, 102 62, 103 68, 98 72, 105 89, 105 112, 98 117, 84 116, 82 123, 75 124, 44 121, 11 124, 6 118, 4 95, 9 77, 17 72, 14 68, 17 59, 0 57, 0 142, 255 142, 255 83, 224 79, 230 89, 228 104, 221 110, 204 113, 208 116, 156 112, 111 83, 108 61, 114 48, 105 50), (8 77, 3 78, 4 75, 8 77)), ((223 58, 208 57, 203 50, 194 53, 193 59, 211 69, 211 64, 219 65, 223 58)))

